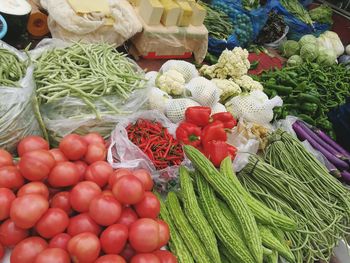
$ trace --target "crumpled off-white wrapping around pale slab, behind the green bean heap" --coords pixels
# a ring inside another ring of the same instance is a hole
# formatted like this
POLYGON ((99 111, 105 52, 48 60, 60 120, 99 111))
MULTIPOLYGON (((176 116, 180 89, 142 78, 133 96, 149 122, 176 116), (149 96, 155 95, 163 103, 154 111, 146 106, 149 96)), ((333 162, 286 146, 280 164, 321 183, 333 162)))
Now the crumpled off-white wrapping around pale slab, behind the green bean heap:
POLYGON ((41 0, 49 15, 48 26, 54 38, 65 41, 107 42, 121 45, 142 30, 136 13, 126 0, 109 0, 113 25, 99 14, 81 16, 66 0, 41 0))

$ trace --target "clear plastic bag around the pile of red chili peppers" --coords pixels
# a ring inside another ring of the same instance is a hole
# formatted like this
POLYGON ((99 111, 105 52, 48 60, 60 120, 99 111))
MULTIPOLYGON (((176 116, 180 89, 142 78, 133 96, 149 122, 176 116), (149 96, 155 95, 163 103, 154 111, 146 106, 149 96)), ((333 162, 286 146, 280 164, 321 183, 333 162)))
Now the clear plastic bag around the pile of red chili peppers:
POLYGON ((172 123, 163 114, 158 111, 138 112, 124 118, 115 127, 110 138, 107 160, 114 169, 146 169, 151 172, 156 184, 164 186, 164 184, 176 180, 179 167, 171 166, 166 169, 157 170, 148 156, 129 140, 126 127, 130 123, 135 123, 138 119, 160 122, 175 138, 177 125, 172 123))

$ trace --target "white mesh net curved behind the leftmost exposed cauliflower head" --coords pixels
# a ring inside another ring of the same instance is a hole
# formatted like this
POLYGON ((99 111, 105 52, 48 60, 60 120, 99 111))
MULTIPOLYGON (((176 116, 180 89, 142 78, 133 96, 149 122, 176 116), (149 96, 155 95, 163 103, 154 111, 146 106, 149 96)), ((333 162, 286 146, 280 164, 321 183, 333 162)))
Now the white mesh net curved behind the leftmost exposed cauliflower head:
POLYGON ((177 72, 180 72, 184 76, 186 83, 189 82, 191 79, 199 76, 196 67, 193 64, 184 60, 168 60, 160 68, 160 72, 165 73, 172 69, 176 70, 177 72))

